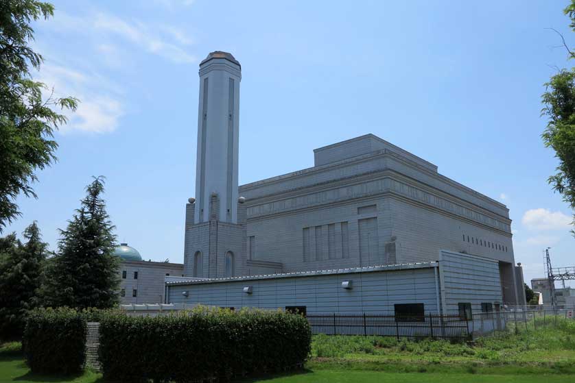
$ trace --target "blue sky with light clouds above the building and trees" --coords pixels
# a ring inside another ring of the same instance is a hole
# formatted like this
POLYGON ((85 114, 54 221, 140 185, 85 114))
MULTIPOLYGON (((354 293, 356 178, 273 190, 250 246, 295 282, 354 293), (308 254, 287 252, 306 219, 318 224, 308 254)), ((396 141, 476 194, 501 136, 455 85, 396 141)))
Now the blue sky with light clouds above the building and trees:
POLYGON ((34 77, 82 102, 58 162, 5 232, 38 221, 55 249, 93 175, 117 239, 183 262, 196 169, 198 64, 242 63, 239 183, 313 166, 313 149, 373 133, 510 209, 525 280, 575 264, 570 208, 547 177, 544 83, 575 46, 562 1, 54 1, 34 23, 34 77))

